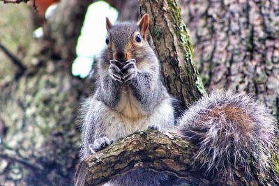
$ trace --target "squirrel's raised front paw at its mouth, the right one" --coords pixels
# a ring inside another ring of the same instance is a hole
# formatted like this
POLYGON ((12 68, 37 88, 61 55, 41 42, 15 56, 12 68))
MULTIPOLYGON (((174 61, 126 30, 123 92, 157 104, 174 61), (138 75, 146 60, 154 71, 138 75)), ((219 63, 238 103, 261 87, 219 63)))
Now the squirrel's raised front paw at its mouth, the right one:
POLYGON ((125 65, 121 69, 122 79, 124 82, 127 82, 130 79, 133 79, 137 75, 137 67, 135 65, 135 59, 130 59, 125 62, 125 65))

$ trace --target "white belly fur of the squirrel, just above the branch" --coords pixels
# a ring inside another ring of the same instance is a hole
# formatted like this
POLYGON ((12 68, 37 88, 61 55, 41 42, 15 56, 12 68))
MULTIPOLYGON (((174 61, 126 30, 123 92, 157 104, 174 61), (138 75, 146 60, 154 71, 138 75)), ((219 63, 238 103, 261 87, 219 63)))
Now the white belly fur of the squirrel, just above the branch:
POLYGON ((146 130, 149 125, 160 125, 163 128, 174 125, 174 113, 169 99, 160 102, 152 114, 137 118, 128 118, 118 111, 113 111, 100 101, 96 101, 94 104, 96 112, 100 112, 95 116, 102 116, 96 122, 95 139, 105 134, 109 139, 116 141, 135 131, 146 130), (102 122, 99 123, 98 120, 102 122))

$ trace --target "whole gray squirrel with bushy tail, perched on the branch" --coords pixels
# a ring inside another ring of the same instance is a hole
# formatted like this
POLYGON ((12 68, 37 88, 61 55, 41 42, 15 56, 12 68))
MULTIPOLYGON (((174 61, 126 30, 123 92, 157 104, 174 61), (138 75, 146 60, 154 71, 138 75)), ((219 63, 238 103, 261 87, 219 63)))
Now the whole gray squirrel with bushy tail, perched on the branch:
MULTIPOLYGON (((147 41, 149 15, 114 25, 107 18, 106 28, 96 90, 81 110, 81 160, 138 130, 178 128, 185 139, 199 144, 193 164, 203 162, 206 173, 231 178, 232 169, 241 166, 249 175, 251 153, 264 171, 276 131, 265 107, 248 95, 215 91, 175 121, 174 99, 163 86, 160 63, 147 41)), ((107 184, 164 185, 167 180, 167 173, 137 170, 107 184)))

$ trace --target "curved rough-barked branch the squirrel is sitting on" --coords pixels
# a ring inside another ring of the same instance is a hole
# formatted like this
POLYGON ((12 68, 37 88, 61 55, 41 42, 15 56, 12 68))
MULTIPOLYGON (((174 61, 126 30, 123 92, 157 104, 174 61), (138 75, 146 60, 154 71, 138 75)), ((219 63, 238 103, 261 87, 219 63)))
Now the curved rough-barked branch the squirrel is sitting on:
MULTIPOLYGON (((247 180, 244 170, 234 170, 234 182, 227 183, 204 176, 200 169, 202 162, 199 165, 191 165, 195 150, 195 144, 175 133, 135 132, 82 162, 77 174, 83 171, 84 179, 76 185, 102 185, 111 178, 140 168, 165 171, 187 180, 190 185, 279 184, 279 179, 273 171, 266 177, 254 171, 252 180, 247 180)), ((254 170, 257 170, 257 167, 254 167, 254 170)))

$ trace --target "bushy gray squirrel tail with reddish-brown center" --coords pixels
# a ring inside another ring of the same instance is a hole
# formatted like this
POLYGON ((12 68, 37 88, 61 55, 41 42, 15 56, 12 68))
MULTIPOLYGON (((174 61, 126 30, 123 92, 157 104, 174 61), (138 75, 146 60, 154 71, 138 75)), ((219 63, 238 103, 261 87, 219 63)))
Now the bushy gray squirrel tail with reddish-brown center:
POLYGON ((251 161, 264 173, 271 160, 276 121, 248 95, 213 92, 190 107, 179 123, 183 137, 199 146, 195 162, 213 176, 233 179, 234 169, 250 176, 251 161))

